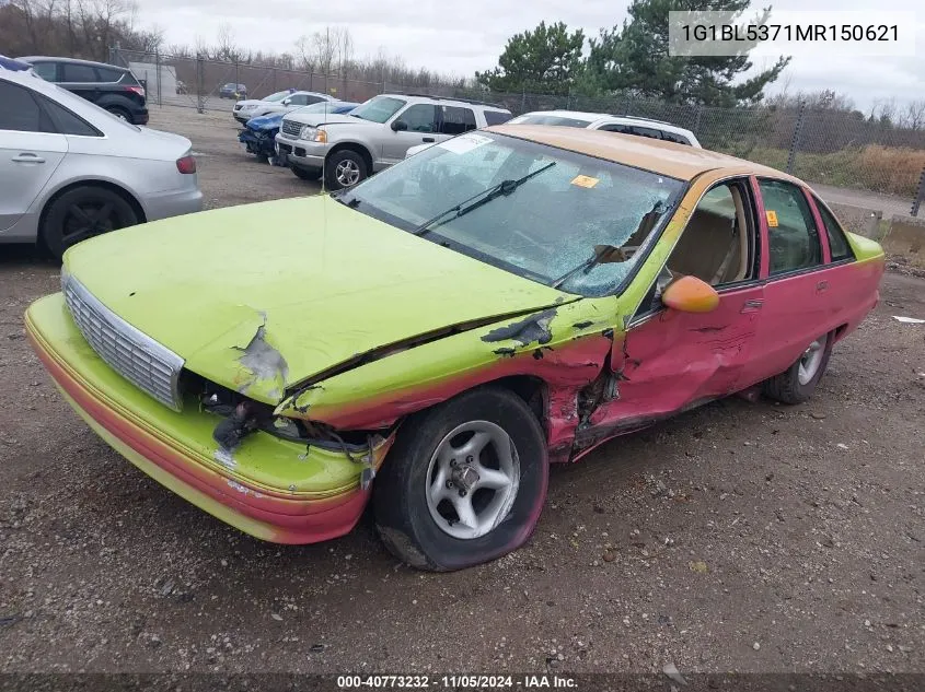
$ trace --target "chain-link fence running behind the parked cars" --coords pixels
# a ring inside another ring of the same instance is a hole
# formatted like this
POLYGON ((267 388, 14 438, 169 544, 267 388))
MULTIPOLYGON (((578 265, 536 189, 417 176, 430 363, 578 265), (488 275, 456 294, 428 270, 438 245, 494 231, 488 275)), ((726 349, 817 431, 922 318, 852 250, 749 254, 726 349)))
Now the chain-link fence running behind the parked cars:
POLYGON ((111 62, 146 82, 149 104, 231 110, 235 96, 224 84, 243 84, 248 98, 284 89, 321 92, 363 102, 381 93, 426 93, 475 98, 506 106, 514 115, 568 109, 663 120, 687 128, 706 149, 786 171, 809 183, 866 190, 911 202, 925 201, 925 130, 865 118, 860 113, 800 108, 713 108, 678 105, 633 95, 588 97, 496 93, 447 85, 345 79, 277 67, 221 62, 186 56, 141 54, 114 48, 111 62))

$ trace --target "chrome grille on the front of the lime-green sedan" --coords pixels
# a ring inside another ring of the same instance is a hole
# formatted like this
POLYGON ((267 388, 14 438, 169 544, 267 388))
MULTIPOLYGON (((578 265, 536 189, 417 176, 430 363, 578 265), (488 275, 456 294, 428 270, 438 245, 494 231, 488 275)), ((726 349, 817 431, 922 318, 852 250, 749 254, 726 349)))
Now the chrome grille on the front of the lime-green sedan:
POLYGON ((65 275, 61 289, 71 317, 97 355, 136 387, 180 411, 183 359, 113 313, 73 277, 65 275))

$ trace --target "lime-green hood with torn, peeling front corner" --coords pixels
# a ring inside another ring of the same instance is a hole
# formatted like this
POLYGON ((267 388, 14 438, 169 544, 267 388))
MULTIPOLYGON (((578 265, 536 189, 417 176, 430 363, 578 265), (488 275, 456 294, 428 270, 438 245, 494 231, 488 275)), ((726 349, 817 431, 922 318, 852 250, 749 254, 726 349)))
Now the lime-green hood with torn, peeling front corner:
POLYGON ((65 266, 188 370, 267 403, 359 353, 574 297, 326 196, 109 233, 65 266))

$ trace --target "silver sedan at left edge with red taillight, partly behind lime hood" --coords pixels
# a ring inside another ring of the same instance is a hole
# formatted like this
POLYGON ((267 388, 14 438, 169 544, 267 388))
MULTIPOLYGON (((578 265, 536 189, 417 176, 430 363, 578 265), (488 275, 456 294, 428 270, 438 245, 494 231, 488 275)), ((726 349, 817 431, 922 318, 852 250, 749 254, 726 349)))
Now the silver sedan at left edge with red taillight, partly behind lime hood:
POLYGON ((203 207, 189 140, 138 128, 32 70, 0 70, 0 243, 37 242, 58 257, 203 207))

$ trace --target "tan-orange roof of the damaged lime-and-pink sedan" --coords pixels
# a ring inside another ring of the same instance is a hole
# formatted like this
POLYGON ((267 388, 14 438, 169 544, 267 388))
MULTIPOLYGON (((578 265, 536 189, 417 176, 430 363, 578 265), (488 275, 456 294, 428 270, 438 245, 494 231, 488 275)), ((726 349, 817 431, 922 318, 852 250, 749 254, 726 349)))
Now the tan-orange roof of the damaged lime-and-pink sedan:
POLYGON ((486 129, 489 132, 531 140, 682 180, 691 180, 702 173, 715 169, 729 174, 754 173, 790 178, 785 173, 743 159, 637 134, 550 125, 496 125, 486 129))

